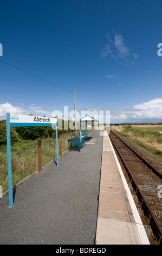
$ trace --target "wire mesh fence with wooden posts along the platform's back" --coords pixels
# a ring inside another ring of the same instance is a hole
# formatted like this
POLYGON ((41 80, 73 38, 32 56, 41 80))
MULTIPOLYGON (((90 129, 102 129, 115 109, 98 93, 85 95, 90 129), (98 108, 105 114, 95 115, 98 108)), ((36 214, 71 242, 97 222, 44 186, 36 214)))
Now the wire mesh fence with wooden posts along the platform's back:
MULTIPOLYGON (((90 134, 90 131, 88 131, 90 134)), ((68 150, 68 139, 75 137, 75 131, 64 133, 58 140, 59 155, 68 150)), ((17 150, 11 149, 12 186, 17 187, 26 182, 31 176, 38 174, 38 141, 31 141, 28 147, 17 150)), ((56 158, 56 138, 41 139, 41 167, 46 166, 56 158)), ((0 199, 8 194, 8 163, 7 150, 0 151, 0 199)))

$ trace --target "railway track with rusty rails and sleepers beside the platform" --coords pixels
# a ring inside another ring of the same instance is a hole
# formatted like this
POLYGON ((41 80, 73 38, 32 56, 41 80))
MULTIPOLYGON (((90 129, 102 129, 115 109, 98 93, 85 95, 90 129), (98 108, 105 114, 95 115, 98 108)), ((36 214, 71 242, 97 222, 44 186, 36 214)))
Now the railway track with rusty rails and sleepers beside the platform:
POLYGON ((124 142, 115 132, 109 132, 121 168, 144 224, 151 244, 162 243, 162 173, 155 169, 124 142))

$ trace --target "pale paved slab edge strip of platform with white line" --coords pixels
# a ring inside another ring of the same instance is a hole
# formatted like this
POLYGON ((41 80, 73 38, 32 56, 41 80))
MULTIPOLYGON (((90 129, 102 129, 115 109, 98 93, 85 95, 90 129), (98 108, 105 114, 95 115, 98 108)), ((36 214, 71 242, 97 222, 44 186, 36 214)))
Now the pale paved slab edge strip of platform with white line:
POLYGON ((149 245, 107 131, 103 131, 96 245, 149 245))

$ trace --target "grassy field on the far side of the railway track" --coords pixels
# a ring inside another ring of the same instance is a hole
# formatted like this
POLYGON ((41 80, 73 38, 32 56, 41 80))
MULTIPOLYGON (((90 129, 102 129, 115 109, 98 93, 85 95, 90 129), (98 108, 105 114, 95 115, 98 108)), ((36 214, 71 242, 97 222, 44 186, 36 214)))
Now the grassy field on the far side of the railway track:
POLYGON ((111 130, 162 161, 162 125, 118 125, 111 130))

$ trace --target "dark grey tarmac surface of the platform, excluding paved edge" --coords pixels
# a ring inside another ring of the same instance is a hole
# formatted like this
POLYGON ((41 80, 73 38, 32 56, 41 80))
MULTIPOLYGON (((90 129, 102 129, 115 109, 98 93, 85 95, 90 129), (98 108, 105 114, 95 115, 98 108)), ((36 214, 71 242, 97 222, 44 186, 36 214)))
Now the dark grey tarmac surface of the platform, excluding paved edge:
POLYGON ((59 158, 0 204, 0 244, 93 245, 102 157, 99 131, 86 147, 59 158))

